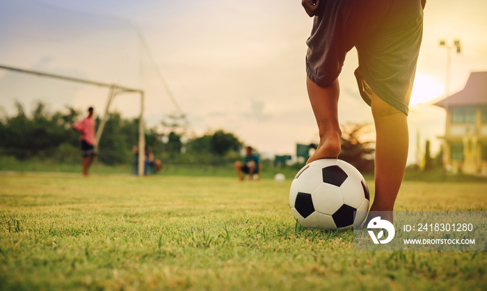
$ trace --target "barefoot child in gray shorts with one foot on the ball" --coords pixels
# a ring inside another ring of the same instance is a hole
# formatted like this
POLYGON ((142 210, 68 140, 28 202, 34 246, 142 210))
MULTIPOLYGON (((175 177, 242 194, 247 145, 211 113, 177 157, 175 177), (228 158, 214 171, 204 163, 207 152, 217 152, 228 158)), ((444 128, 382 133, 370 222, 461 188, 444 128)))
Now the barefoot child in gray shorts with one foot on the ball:
MULTIPOLYGON (((341 150, 338 76, 356 47, 355 71, 376 126, 375 196, 371 211, 392 210, 408 157, 408 105, 415 78, 426 0, 302 0, 314 17, 306 44, 307 86, 319 129, 308 163, 335 159, 341 150)), ((372 219, 373 217, 369 217, 372 219)))

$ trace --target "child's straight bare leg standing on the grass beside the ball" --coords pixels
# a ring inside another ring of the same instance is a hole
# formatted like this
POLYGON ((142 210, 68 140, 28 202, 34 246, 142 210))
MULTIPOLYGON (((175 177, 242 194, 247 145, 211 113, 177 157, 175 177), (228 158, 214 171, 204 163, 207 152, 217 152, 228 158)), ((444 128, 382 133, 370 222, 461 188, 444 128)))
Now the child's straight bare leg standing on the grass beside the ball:
MULTIPOLYGON (((370 211, 392 210, 404 176, 408 158, 407 116, 372 94, 372 115, 376 126, 375 196, 370 211)), ((368 220, 373 217, 369 217, 368 220)))

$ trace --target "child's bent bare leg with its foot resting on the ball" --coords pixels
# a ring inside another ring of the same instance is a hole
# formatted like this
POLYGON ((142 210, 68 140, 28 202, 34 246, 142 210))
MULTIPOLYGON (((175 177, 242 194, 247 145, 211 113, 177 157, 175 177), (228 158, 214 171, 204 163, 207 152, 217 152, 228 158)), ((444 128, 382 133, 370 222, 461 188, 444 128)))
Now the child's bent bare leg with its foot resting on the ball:
POLYGON ((307 78, 306 86, 319 129, 318 148, 308 159, 307 164, 316 159, 336 159, 340 154, 342 143, 342 131, 338 123, 338 97, 340 95, 338 79, 328 87, 320 87, 307 78))

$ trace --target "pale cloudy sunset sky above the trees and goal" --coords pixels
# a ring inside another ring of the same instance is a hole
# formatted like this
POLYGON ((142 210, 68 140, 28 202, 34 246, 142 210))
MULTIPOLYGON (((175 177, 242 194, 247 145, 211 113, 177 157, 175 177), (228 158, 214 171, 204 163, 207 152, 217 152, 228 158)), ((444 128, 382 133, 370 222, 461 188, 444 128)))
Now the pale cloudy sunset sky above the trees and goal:
MULTIPOLYGON (((431 103, 465 86, 470 72, 487 70, 484 0, 428 0, 424 36, 411 99, 410 154, 417 137, 433 153, 445 131, 445 111, 431 103), (461 54, 438 45, 461 40, 461 54)), ((293 155, 296 143, 318 141, 305 88, 305 40, 312 18, 301 1, 2 0, 0 65, 119 84, 145 91, 148 126, 177 111, 161 84, 168 84, 186 113, 191 132, 223 129, 263 155, 293 155), (150 52, 147 52, 146 47, 150 52)), ((340 75, 340 123, 372 124, 353 71, 356 51, 340 75)), ((0 112, 15 102, 31 111, 65 106, 104 111, 108 89, 0 70, 0 112)), ((138 95, 118 95, 113 110, 140 113, 138 95)), ((369 139, 373 139, 373 136, 369 139)))

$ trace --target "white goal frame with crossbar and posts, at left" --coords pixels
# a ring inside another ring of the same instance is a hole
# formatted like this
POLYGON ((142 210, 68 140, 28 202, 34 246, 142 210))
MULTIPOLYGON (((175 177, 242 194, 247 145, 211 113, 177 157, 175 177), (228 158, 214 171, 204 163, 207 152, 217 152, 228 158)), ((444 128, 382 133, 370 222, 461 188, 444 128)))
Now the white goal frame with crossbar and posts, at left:
POLYGON ((39 72, 39 71, 33 71, 33 70, 24 70, 24 69, 19 69, 19 68, 13 68, 13 67, 8 67, 6 65, 0 65, 0 69, 4 70, 10 70, 13 72, 20 72, 24 74, 34 74, 38 75, 40 77, 49 77, 49 78, 54 78, 54 79, 60 79, 64 81, 71 81, 71 82, 76 82, 76 83, 81 83, 81 84, 88 84, 88 85, 93 85, 93 86, 99 86, 99 87, 106 87, 109 88, 109 96, 106 102, 106 107, 105 107, 105 112, 104 116, 102 119, 102 122, 99 124, 97 132, 95 134, 96 136, 96 141, 95 141, 95 148, 97 148, 99 139, 102 137, 103 129, 106 124, 106 121, 109 119, 109 109, 110 109, 110 104, 115 98, 115 95, 120 94, 120 93, 138 93, 141 96, 141 113, 139 116, 139 124, 138 124, 138 175, 143 176, 144 175, 144 166, 145 166, 145 132, 144 132, 144 91, 141 89, 136 89, 136 88, 129 88, 125 86, 119 86, 116 84, 106 84, 103 82, 98 82, 98 81, 90 81, 86 79, 79 79, 79 78, 74 78, 74 77, 68 77, 68 76, 63 76, 60 74, 50 74, 47 72, 39 72))

